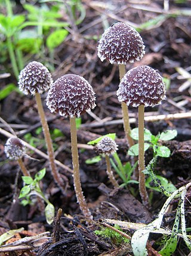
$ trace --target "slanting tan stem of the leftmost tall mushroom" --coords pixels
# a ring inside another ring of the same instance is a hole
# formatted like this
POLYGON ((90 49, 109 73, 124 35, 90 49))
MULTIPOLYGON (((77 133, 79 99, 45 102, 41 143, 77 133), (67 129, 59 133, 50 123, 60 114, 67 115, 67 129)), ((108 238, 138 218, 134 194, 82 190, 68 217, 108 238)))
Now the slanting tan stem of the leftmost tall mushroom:
POLYGON ((58 173, 57 168, 56 168, 53 143, 52 143, 50 131, 48 128, 47 119, 44 114, 44 109, 42 107, 41 95, 37 92, 35 94, 35 98, 36 98, 36 104, 38 106, 38 113, 41 118, 41 124, 42 124, 42 129, 44 132, 45 141, 47 143, 47 152, 48 152, 48 156, 50 159, 50 166, 51 166, 51 170, 53 173, 54 181, 57 183, 57 185, 60 187, 61 191, 64 193, 63 182, 62 182, 60 174, 58 173))

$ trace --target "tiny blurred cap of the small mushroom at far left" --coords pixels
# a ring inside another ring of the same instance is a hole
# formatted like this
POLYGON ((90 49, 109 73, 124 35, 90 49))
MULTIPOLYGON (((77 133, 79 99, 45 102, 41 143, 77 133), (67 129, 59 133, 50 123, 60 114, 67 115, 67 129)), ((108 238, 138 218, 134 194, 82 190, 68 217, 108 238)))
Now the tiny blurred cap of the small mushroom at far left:
POLYGON ((25 155, 26 147, 19 138, 11 137, 8 138, 7 142, 5 143, 4 151, 7 155, 7 158, 18 160, 22 158, 23 155, 25 155))

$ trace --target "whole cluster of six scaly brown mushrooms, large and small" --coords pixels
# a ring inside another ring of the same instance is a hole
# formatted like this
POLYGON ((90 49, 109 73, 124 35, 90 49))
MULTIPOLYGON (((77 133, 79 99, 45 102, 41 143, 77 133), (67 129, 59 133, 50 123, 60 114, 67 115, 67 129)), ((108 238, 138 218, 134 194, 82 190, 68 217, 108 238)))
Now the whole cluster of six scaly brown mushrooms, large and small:
MULTIPOLYGON (((148 66, 141 66, 125 71, 125 65, 139 61, 144 55, 143 40, 135 29, 125 23, 118 22, 104 31, 98 43, 98 57, 101 61, 105 59, 111 64, 119 65, 119 89, 116 92, 118 100, 121 102, 122 113, 124 118, 124 130, 128 146, 133 146, 134 141, 131 138, 131 129, 128 117, 128 106, 138 107, 138 173, 139 173, 139 190, 145 206, 148 206, 148 196, 145 187, 144 177, 144 107, 156 106, 165 98, 165 85, 158 71, 148 66)), ((84 216, 92 219, 90 210, 87 207, 79 176, 78 147, 76 135, 75 119, 79 118, 85 112, 96 107, 96 97, 92 86, 83 77, 76 74, 66 74, 55 82, 51 74, 44 65, 39 62, 30 62, 20 73, 19 88, 24 94, 35 95, 38 106, 39 116, 41 118, 42 128, 44 131, 45 141, 47 143, 47 152, 50 158, 50 167, 55 182, 63 191, 63 182, 54 159, 53 143, 50 137, 50 131, 47 120, 42 108, 41 94, 48 91, 46 103, 51 112, 59 113, 64 118, 70 119, 71 131, 71 149, 73 162, 73 181, 76 192, 76 198, 84 216)), ((106 161, 109 164, 109 155, 117 150, 113 141, 104 137, 97 145, 97 152, 107 156, 106 161)), ((19 161, 20 166, 25 149, 19 138, 10 138, 5 144, 7 156, 19 161), (14 150, 14 146, 19 150, 14 150), (16 152, 20 152, 17 154, 16 152)), ((29 173, 23 170, 24 175, 29 173)), ((114 186, 118 182, 113 177, 112 171, 108 176, 114 186)))

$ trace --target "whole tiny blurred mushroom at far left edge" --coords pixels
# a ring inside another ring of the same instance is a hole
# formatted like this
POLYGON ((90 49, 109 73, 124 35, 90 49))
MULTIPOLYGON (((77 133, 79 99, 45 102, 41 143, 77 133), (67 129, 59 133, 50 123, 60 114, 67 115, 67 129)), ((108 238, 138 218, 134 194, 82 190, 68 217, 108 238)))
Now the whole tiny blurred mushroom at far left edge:
POLYGON ((5 143, 4 150, 7 158, 18 161, 23 175, 30 176, 22 160, 23 156, 26 154, 26 147, 24 146, 23 142, 17 137, 8 138, 7 142, 5 143))

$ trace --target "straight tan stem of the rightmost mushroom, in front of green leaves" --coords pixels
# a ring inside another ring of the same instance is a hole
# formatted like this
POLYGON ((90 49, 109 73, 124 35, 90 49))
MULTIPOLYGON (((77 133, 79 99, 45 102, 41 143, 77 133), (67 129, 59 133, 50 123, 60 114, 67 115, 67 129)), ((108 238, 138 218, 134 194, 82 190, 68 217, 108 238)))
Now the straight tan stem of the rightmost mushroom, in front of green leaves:
POLYGON ((144 105, 138 106, 138 181, 144 206, 149 207, 149 197, 145 186, 144 170, 144 105))

